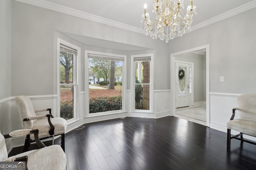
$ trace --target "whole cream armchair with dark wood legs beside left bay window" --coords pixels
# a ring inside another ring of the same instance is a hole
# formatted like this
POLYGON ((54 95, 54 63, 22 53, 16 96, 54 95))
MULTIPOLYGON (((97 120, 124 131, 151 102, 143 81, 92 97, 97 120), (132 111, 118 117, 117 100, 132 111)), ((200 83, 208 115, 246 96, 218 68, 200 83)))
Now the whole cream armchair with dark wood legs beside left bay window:
MULTIPOLYGON (((33 104, 27 96, 17 96, 15 102, 20 113, 23 128, 38 129, 38 137, 40 139, 52 137, 52 144, 54 144, 54 136, 61 135, 61 147, 65 152, 66 120, 61 117, 53 117, 51 109, 34 110, 33 104), (49 114, 36 115, 37 112, 42 111, 49 111, 49 114)), ((23 152, 28 150, 31 142, 34 142, 34 134, 26 136, 23 152)))

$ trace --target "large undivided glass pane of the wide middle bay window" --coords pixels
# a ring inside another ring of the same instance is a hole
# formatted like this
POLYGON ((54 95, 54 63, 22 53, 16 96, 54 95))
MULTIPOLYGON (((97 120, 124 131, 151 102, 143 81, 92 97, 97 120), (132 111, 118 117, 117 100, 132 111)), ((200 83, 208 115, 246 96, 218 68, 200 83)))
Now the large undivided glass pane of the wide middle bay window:
POLYGON ((122 61, 89 59, 89 113, 122 110, 122 61))

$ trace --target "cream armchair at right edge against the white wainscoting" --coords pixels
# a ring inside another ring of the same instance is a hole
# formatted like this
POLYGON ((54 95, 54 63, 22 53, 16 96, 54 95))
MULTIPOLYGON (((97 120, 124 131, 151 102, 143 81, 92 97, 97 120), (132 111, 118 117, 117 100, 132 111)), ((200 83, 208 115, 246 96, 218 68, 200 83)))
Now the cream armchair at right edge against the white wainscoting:
POLYGON ((237 98, 238 107, 233 109, 232 117, 227 123, 227 147, 231 139, 238 139, 256 145, 254 141, 244 139, 243 134, 256 137, 256 94, 242 94, 237 98), (238 111, 238 118, 234 119, 238 111), (231 129, 240 132, 231 137, 231 129))

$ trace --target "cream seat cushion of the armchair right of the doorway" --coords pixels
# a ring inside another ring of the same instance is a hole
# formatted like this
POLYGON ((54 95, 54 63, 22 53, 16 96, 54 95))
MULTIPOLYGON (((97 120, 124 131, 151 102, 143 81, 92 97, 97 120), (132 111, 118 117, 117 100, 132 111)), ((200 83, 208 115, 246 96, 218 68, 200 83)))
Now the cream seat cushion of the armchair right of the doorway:
POLYGON ((256 136, 256 120, 254 119, 234 119, 228 121, 227 128, 247 135, 256 136))

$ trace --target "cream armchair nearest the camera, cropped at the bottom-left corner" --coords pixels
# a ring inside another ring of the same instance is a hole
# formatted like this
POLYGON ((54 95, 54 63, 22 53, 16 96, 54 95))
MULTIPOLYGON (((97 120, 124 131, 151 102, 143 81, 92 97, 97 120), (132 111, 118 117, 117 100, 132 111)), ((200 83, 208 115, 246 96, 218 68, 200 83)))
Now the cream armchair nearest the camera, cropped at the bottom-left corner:
MULTIPOLYGON (((11 132, 9 135, 2 135, 0 132, 0 162, 26 162, 27 170, 66 170, 66 155, 60 145, 45 145, 38 138, 38 129, 23 129, 11 132), (21 137, 34 134, 36 143, 40 149, 30 150, 8 158, 5 138, 21 137)), ((25 165, 25 164, 22 164, 25 165)), ((22 167, 23 168, 23 167, 22 167)))

